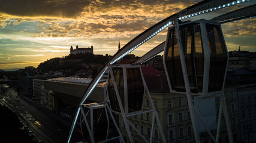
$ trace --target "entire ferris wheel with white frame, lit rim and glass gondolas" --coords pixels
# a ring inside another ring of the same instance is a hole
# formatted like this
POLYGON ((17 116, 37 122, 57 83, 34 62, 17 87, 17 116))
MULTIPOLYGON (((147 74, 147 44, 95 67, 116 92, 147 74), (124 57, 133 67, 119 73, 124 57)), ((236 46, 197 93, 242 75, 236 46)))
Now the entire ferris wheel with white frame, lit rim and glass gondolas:
POLYGON ((152 133, 150 140, 147 141, 128 120, 128 117, 143 113, 152 113, 151 130, 153 130, 154 123, 156 123, 162 141, 167 142, 140 69, 140 64, 152 59, 162 51, 164 51, 163 63, 170 92, 186 94, 195 142, 201 142, 197 120, 200 120, 212 141, 219 142, 222 111, 225 117, 225 124, 227 125, 228 139, 230 142, 233 142, 227 105, 223 94, 228 65, 228 52, 221 24, 255 17, 255 1, 249 4, 248 7, 219 15, 210 20, 205 18, 188 21, 188 19, 198 17, 199 15, 203 17, 204 14, 214 13, 215 11, 248 1, 206 0, 198 2, 179 13, 170 15, 129 41, 107 61, 89 84, 77 108, 67 142, 71 141, 71 136, 79 116, 84 141, 107 142, 115 140, 125 142, 113 114, 121 116, 124 127, 127 130, 129 142, 133 142, 131 129, 135 130, 145 142, 152 142, 152 133), (134 64, 122 66, 115 64, 125 55, 134 51, 164 29, 168 29, 166 41, 155 46, 155 48, 135 61, 134 64), (107 82, 108 96, 106 100, 102 103, 85 104, 89 96, 94 96, 92 91, 94 91, 94 88, 106 71, 109 71, 107 82), (148 111, 143 110, 145 96, 149 98, 151 107, 148 111), (200 112, 208 114, 208 111, 201 110, 200 103, 195 103, 215 97, 221 98, 218 124, 216 125, 216 138, 210 132, 207 123, 204 123, 204 120, 199 115, 200 112), (116 130, 116 136, 110 135, 112 128, 116 130))

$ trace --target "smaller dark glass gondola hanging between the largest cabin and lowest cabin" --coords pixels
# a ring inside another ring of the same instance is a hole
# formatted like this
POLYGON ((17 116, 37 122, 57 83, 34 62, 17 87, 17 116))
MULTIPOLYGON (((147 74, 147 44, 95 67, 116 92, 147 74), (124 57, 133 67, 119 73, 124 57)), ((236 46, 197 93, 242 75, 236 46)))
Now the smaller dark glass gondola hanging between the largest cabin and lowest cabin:
MULTIPOLYGON (((112 71, 125 114, 142 111, 145 90, 140 67, 129 65, 112 66, 112 71)), ((121 113, 110 74, 109 82, 107 83, 107 91, 112 111, 121 113)))

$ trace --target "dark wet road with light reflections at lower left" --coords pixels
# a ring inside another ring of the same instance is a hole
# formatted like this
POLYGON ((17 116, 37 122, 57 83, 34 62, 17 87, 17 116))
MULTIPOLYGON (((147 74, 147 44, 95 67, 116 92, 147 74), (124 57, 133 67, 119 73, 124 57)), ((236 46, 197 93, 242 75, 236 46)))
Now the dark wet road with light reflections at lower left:
POLYGON ((28 104, 22 98, 17 97, 17 93, 13 89, 7 89, 2 95, 1 104, 7 105, 16 112, 20 120, 35 133, 37 141, 67 142, 69 128, 49 116, 50 111, 46 113, 46 111, 28 104))

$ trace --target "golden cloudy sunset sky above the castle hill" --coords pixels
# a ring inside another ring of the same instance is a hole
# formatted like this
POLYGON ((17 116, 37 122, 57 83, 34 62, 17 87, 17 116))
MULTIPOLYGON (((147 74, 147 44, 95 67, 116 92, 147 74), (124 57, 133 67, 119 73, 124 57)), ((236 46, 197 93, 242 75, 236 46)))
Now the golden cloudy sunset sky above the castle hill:
MULTIPOLYGON (((200 1, 190 0, 0 0, 0 69, 16 69, 70 54, 70 46, 94 46, 113 55, 141 32, 200 1)), ((255 4, 253 2, 246 2, 255 4)), ((212 18, 230 9, 204 15, 212 18)), ((228 51, 256 52, 256 18, 222 24, 228 51)), ((143 55, 165 41, 166 30, 131 54, 143 55)))

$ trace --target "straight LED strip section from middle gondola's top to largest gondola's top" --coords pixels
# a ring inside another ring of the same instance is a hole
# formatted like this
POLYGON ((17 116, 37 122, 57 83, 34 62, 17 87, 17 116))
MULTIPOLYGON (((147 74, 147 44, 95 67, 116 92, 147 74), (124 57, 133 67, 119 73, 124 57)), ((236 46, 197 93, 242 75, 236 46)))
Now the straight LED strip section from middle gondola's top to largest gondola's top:
POLYGON ((160 29, 156 30, 152 35, 148 36, 146 39, 144 39, 143 41, 141 41, 140 43, 138 43, 136 46, 132 47, 131 49, 129 49, 127 52, 125 52, 124 54, 122 54, 121 56, 119 56, 118 58, 116 58, 114 61, 112 61, 110 64, 114 64, 116 63, 116 61, 120 60, 121 58, 125 57, 125 55, 129 54, 130 52, 132 52, 134 49, 138 48, 140 45, 142 45, 144 42, 148 41, 149 39, 153 38, 153 36, 157 35, 159 32, 161 32, 162 30, 164 30, 165 28, 167 28, 168 26, 170 26, 170 24, 172 24, 172 21, 168 21, 167 24, 165 24, 164 26, 162 26, 160 29))

